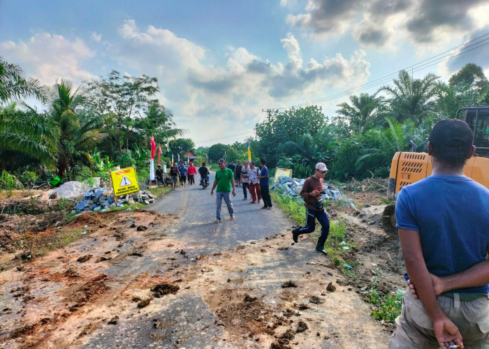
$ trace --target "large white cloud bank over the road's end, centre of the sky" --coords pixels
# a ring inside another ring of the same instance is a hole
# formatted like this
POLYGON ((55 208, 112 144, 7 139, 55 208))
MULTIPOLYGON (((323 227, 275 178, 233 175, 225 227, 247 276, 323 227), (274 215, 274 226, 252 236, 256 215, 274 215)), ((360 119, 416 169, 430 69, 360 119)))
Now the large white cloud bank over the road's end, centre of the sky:
POLYGON ((305 66, 292 34, 282 40, 287 61, 272 64, 245 47, 228 47, 223 66, 211 64, 205 47, 168 29, 140 29, 128 20, 119 34, 122 41, 111 43, 106 54, 138 73, 156 75, 166 107, 196 141, 237 131, 251 134, 263 107, 291 106, 309 100, 309 93, 324 96, 329 87, 359 84, 370 74, 361 50, 305 66))

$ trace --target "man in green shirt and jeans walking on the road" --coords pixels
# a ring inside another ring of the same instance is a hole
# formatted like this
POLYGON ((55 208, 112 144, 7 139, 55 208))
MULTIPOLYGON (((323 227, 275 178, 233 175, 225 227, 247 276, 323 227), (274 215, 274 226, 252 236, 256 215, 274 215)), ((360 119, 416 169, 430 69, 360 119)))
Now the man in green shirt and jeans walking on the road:
POLYGON ((234 220, 234 208, 231 202, 231 186, 233 186, 233 196, 236 196, 236 188, 234 184, 234 172, 230 168, 226 168, 226 162, 223 159, 217 161, 219 164, 219 170, 216 171, 216 179, 212 184, 212 190, 210 196, 214 196, 214 189, 216 189, 216 221, 214 223, 221 223, 221 203, 224 198, 224 202, 228 206, 229 215, 231 221, 234 220), (217 188, 216 188, 217 187, 217 188))

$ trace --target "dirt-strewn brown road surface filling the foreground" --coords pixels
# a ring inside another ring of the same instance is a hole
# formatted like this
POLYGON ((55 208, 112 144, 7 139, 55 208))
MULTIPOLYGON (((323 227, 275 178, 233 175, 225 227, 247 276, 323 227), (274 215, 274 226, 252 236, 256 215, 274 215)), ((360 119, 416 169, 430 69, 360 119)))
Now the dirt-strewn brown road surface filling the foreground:
POLYGON ((353 195, 361 210, 329 212, 347 220, 356 243, 351 278, 307 237, 293 244, 292 223, 277 207, 249 205, 239 189, 236 221, 219 225, 210 223, 209 189, 192 187, 148 210, 82 214, 38 232, 3 215, 0 236, 69 231, 77 239, 22 264, 0 242, 0 346, 386 348, 392 327, 372 318, 362 296, 372 282, 385 292, 403 287, 398 242, 379 226, 382 206, 363 204, 379 195, 353 195))

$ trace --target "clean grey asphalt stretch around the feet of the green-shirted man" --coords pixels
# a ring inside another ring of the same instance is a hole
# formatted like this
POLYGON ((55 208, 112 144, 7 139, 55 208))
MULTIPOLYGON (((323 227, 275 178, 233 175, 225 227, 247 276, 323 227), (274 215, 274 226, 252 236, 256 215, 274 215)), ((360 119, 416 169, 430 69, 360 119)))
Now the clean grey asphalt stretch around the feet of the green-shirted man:
POLYGON ((215 195, 210 196, 213 181, 214 172, 211 172, 211 185, 205 190, 196 180, 196 184, 178 187, 176 191, 171 191, 161 200, 149 205, 147 209, 180 216, 174 235, 185 240, 189 246, 194 246, 196 248, 194 252, 197 254, 220 252, 243 242, 261 239, 291 228, 293 223, 281 209, 277 207, 271 210, 261 209, 263 201, 260 204, 250 204, 249 193, 247 193, 248 200, 243 200, 241 186, 236 187, 236 196, 232 199, 235 221, 230 221, 228 208, 223 200, 222 221, 219 224, 214 223, 216 199, 215 195))

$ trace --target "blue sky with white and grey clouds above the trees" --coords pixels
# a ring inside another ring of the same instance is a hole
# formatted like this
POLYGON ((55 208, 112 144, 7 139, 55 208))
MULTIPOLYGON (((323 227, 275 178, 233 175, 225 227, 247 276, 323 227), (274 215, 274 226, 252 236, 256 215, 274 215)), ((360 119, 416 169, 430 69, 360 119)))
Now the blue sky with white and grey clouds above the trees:
POLYGON ((489 0, 0 0, 0 56, 48 85, 156 77, 183 138, 208 147, 254 138, 268 109, 333 116, 401 69, 489 76, 488 13, 489 0))

